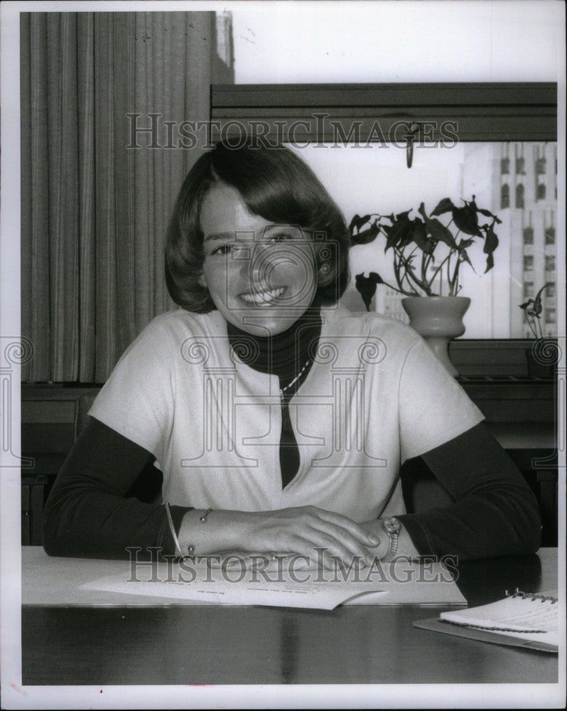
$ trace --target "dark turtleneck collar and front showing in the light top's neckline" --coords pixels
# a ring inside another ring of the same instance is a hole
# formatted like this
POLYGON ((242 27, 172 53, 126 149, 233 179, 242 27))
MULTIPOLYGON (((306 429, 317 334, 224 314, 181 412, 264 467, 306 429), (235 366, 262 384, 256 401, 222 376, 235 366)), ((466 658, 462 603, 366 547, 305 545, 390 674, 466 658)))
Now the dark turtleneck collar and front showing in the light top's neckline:
POLYGON ((306 379, 321 333, 320 308, 315 304, 291 328, 276 336, 254 336, 228 323, 230 346, 239 360, 260 373, 279 378, 281 392, 281 438, 279 459, 281 486, 285 488, 299 469, 299 449, 289 417, 289 401, 306 379), (303 370, 303 368, 305 368, 303 370), (293 378, 300 377, 293 385, 293 378))

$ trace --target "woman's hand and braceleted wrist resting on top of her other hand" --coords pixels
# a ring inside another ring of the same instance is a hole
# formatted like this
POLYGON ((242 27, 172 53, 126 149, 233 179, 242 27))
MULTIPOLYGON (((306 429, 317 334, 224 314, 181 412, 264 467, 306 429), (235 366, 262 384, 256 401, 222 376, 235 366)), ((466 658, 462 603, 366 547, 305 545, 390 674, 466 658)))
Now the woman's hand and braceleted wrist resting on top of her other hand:
POLYGON ((186 513, 179 533, 182 548, 192 545, 195 555, 221 550, 294 554, 333 570, 333 559, 347 566, 353 560, 360 566, 372 565, 379 543, 364 524, 315 506, 261 512, 214 510, 206 524, 199 522, 199 515, 200 511, 186 513))

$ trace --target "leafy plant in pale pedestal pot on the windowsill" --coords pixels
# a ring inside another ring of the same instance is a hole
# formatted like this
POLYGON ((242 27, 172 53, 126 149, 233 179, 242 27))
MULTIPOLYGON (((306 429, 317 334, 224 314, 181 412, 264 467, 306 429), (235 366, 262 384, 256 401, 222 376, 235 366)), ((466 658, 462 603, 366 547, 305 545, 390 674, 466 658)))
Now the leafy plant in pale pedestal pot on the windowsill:
POLYGON ((484 242, 485 273, 492 269, 498 246, 494 227, 501 223, 489 210, 477 207, 474 195, 470 202, 463 203, 458 207, 450 198, 443 198, 429 215, 421 203, 413 219, 408 210, 399 215, 355 215, 350 222, 352 245, 366 245, 382 235, 386 240, 384 252, 392 250, 394 257, 394 284, 377 272, 370 272, 368 277, 357 274, 356 288, 367 310, 377 284, 404 294, 401 303, 410 325, 452 375, 458 373, 450 362, 448 343, 465 333, 463 316, 470 306, 468 297, 458 296, 460 269, 468 264, 476 271, 467 250, 477 239, 484 242), (438 219, 441 215, 450 215, 450 220, 443 223, 438 219), (480 220, 479 215, 486 219, 480 220))

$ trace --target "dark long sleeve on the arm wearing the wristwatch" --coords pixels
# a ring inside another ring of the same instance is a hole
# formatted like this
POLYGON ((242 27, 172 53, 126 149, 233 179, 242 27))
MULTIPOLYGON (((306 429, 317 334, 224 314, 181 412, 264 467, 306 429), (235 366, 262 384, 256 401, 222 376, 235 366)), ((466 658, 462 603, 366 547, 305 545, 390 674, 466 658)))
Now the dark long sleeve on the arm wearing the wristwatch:
POLYGON ((539 549, 536 498, 484 423, 421 458, 454 501, 446 508, 396 516, 421 554, 467 560, 539 549))

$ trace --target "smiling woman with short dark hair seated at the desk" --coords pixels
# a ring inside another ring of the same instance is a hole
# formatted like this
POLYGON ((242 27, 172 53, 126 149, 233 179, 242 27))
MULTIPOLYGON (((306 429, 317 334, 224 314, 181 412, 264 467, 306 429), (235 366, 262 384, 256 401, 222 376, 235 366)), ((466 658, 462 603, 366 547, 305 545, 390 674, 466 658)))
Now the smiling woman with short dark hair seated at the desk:
POLYGON ((348 247, 291 151, 219 144, 197 161, 166 245, 183 308, 99 393, 45 508, 50 555, 319 549, 330 567, 538 549, 534 496, 421 338, 338 306, 348 247), (406 513, 399 468, 415 456, 452 506, 406 513), (166 503, 125 498, 154 460, 166 503))

